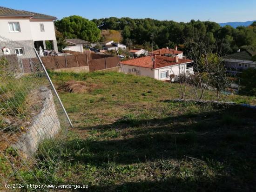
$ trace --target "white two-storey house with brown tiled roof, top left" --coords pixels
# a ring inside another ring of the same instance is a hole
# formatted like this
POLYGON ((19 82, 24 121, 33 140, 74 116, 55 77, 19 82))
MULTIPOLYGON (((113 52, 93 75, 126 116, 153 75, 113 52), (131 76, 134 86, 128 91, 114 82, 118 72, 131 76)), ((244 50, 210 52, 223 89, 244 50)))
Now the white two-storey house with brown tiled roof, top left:
POLYGON ((7 47, 11 54, 24 58, 26 53, 33 54, 33 47, 46 49, 45 41, 50 40, 54 51, 58 52, 54 30, 56 19, 41 13, 0 7, 0 49, 7 47), (11 40, 12 44, 5 43, 7 40, 11 40))

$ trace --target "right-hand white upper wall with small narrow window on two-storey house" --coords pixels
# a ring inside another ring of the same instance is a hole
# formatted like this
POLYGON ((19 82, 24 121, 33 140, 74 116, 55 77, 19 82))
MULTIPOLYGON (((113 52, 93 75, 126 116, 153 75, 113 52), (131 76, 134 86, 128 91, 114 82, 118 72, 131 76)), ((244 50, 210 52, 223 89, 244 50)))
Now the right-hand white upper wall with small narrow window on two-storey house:
POLYGON ((30 28, 34 41, 56 40, 54 22, 49 20, 30 20, 30 28), (44 32, 40 30, 40 24, 44 26, 44 32))

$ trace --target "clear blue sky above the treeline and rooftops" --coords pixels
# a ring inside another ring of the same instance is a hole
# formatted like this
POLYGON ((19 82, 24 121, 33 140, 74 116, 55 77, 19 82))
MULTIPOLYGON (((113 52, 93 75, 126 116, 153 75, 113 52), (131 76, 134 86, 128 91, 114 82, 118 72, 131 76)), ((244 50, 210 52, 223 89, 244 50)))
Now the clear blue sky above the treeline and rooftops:
POLYGON ((256 0, 0 0, 0 6, 58 19, 76 14, 90 20, 111 16, 177 22, 256 20, 256 0))

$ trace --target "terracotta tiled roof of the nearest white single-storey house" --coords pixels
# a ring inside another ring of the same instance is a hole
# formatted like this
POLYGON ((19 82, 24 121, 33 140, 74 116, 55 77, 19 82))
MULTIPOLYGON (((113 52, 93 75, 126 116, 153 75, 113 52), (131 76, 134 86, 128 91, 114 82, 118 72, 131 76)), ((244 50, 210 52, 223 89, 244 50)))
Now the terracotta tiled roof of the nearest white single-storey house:
POLYGON ((192 60, 185 60, 185 59, 179 59, 178 62, 175 62, 175 58, 173 57, 155 55, 155 56, 146 56, 146 57, 136 58, 132 60, 121 61, 121 64, 156 69, 156 68, 161 68, 165 66, 172 66, 172 65, 192 63, 192 62, 193 62, 192 60), (154 65, 154 58, 155 58, 155 65, 154 65))

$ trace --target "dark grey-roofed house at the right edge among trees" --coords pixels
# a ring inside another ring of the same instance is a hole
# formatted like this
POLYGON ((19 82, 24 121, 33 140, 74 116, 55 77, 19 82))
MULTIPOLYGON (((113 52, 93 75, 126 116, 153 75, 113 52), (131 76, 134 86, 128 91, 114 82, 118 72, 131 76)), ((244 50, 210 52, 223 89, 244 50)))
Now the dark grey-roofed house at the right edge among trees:
POLYGON ((243 70, 249 67, 256 68, 256 61, 252 60, 252 57, 255 55, 256 52, 250 50, 240 52, 238 49, 237 53, 225 56, 223 60, 227 67, 227 72, 236 75, 237 73, 242 73, 243 70))

